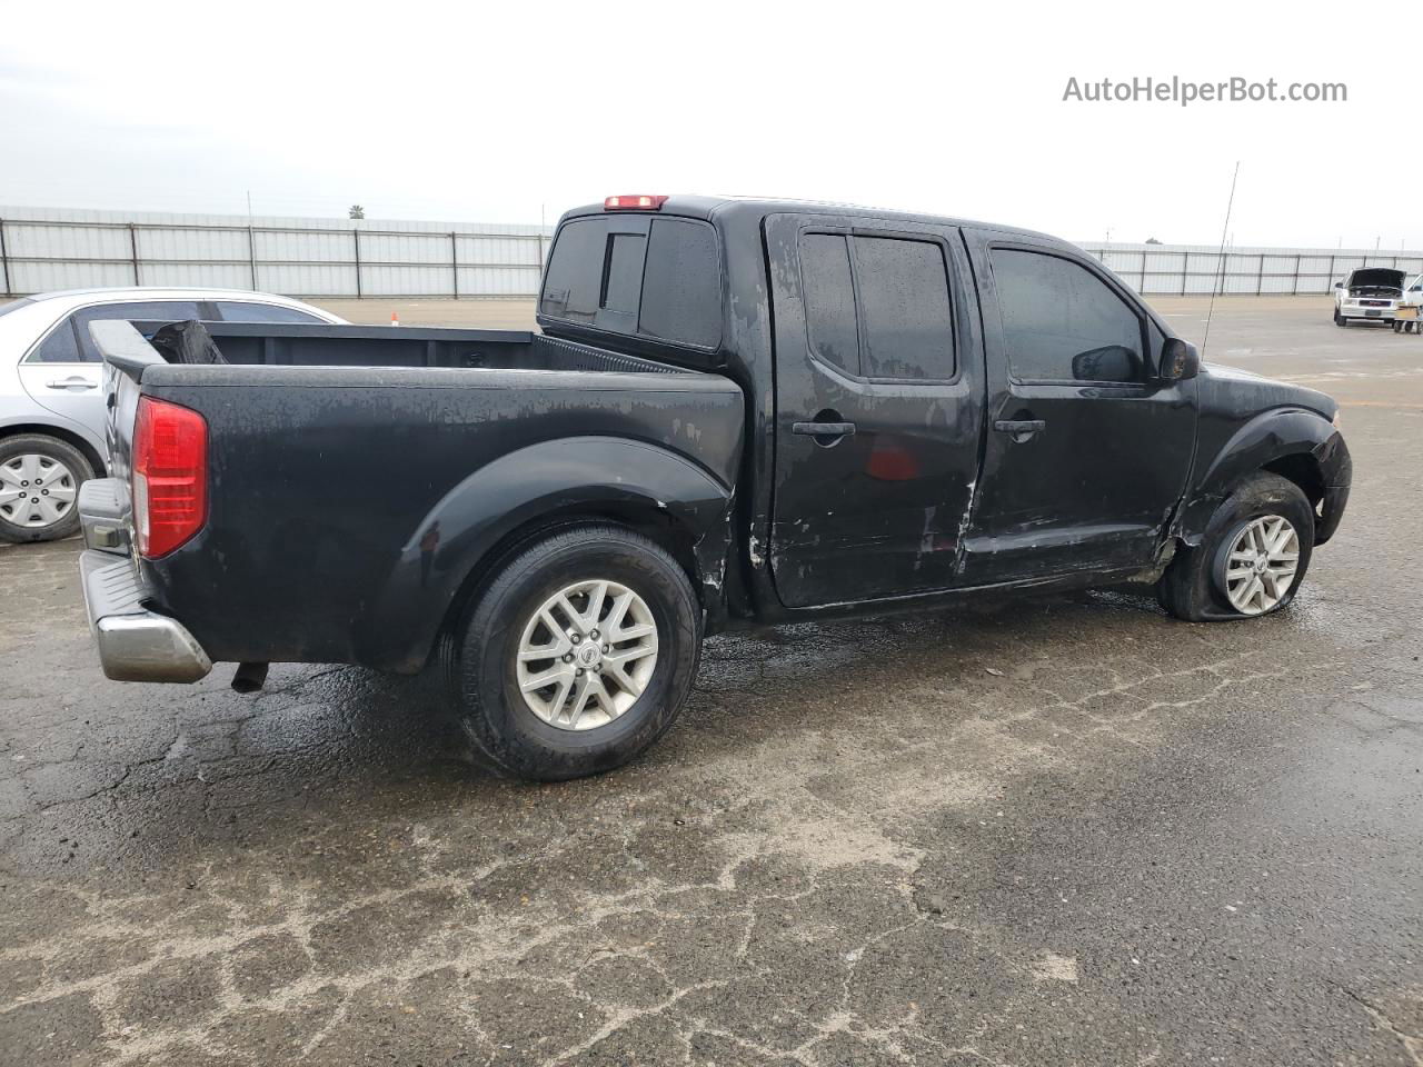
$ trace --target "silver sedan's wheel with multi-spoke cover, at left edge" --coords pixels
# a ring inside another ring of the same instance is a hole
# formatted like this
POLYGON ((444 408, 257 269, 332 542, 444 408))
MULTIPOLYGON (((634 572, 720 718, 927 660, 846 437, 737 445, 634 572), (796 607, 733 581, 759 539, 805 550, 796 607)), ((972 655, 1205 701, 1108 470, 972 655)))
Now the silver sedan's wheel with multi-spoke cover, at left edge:
POLYGON ((80 529, 80 485, 94 477, 84 454, 54 437, 0 441, 0 541, 58 541, 80 529))

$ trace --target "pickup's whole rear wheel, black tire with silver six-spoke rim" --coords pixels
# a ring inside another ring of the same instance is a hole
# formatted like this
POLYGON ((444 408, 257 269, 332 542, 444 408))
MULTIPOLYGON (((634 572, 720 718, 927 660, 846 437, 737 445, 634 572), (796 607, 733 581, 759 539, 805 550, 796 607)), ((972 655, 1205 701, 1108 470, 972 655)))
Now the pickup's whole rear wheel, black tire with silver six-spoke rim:
POLYGON ((497 566, 445 642, 445 677, 481 755, 562 781, 628 763, 682 710, 702 607, 686 572, 622 526, 562 529, 497 566))

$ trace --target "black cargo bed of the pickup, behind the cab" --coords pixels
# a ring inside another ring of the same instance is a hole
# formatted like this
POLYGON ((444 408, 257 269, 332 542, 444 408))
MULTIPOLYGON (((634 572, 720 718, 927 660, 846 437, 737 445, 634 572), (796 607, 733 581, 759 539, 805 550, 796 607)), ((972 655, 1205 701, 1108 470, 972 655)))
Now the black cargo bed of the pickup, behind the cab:
POLYGON ((417 670, 475 561, 551 508, 652 501, 724 559, 744 407, 729 378, 525 331, 212 336, 228 366, 94 326, 117 491, 139 394, 208 423, 208 522, 139 572, 212 660, 417 670))

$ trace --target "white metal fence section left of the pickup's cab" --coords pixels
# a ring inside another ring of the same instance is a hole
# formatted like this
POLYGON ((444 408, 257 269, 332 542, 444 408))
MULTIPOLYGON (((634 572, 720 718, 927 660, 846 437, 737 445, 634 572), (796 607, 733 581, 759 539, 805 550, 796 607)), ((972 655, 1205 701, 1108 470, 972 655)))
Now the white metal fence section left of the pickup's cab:
POLYGON ((551 230, 0 208, 6 294, 211 286, 292 296, 531 297, 551 230))

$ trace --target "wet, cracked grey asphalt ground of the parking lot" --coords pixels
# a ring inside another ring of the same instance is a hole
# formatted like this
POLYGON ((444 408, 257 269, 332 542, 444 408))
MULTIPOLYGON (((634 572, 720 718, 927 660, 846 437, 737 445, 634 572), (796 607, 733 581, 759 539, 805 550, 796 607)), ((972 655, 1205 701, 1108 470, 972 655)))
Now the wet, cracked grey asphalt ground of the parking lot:
POLYGON ((487 777, 418 679, 108 683, 78 543, 0 548, 0 1063, 1423 1064, 1423 337, 1328 309, 1211 327, 1345 403, 1288 612, 721 636, 596 780, 487 777))

